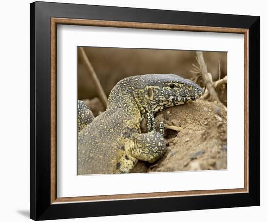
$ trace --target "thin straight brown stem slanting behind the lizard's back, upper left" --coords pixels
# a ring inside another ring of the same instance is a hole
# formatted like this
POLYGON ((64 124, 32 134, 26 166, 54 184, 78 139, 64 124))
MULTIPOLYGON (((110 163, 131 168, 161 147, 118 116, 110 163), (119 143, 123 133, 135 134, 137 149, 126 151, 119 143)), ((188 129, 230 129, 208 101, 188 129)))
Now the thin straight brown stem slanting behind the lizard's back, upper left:
POLYGON ((89 73, 91 79, 93 80, 93 84, 94 84, 94 86, 96 88, 97 94, 98 94, 101 102, 103 103, 103 106, 106 109, 107 108, 107 104, 108 104, 107 96, 106 96, 106 94, 105 94, 105 92, 104 92, 104 90, 103 90, 103 88, 102 88, 102 86, 100 84, 100 81, 99 81, 99 79, 97 77, 97 74, 96 74, 92 64, 90 63, 90 61, 89 61, 89 59, 88 59, 83 47, 79 47, 79 49, 80 49, 80 52, 81 52, 81 56, 83 58, 83 62, 85 63, 86 68, 88 70, 88 73, 89 73))

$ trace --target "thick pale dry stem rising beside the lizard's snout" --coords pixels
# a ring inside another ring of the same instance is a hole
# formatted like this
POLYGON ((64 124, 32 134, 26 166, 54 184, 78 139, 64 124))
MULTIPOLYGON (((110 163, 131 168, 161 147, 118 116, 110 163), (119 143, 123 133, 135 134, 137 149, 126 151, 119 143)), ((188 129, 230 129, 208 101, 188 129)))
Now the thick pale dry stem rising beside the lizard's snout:
POLYGON ((202 78, 203 78, 204 84, 206 85, 206 87, 210 93, 211 99, 212 99, 212 101, 217 101, 220 103, 221 101, 220 101, 220 99, 217 95, 217 92, 213 86, 212 79, 210 78, 210 74, 208 73, 207 66, 206 66, 206 63, 204 61, 203 52, 196 52, 196 54, 197 54, 197 61, 199 63, 200 69, 201 69, 202 78))

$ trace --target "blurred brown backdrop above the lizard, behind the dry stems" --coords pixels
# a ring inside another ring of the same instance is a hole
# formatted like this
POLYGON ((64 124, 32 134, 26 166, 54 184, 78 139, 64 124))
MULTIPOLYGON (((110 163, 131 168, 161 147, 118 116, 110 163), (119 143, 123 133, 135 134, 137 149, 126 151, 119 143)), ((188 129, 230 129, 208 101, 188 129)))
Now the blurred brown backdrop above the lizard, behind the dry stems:
MULTIPOLYGON (((79 48, 79 47, 78 47, 79 48)), ((186 79, 194 77, 190 72, 193 64, 198 65, 195 51, 83 47, 92 64, 100 84, 108 96, 116 83, 128 76, 149 73, 173 73, 186 79)), ((87 100, 97 97, 97 93, 82 55, 78 53, 78 99, 87 100)), ((208 72, 214 81, 219 79, 219 63, 221 79, 227 75, 226 52, 203 52, 208 72)), ((223 92, 226 100, 226 91, 223 92)), ((100 109, 102 111, 102 109, 100 109)))

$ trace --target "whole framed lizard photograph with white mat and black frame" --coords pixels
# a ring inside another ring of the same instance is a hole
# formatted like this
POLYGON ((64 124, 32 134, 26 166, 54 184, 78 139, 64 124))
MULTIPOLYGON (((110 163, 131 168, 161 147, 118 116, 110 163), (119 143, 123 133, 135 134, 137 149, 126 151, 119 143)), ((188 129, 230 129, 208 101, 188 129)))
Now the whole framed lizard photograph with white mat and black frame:
POLYGON ((260 205, 259 16, 34 2, 30 38, 32 219, 260 205))

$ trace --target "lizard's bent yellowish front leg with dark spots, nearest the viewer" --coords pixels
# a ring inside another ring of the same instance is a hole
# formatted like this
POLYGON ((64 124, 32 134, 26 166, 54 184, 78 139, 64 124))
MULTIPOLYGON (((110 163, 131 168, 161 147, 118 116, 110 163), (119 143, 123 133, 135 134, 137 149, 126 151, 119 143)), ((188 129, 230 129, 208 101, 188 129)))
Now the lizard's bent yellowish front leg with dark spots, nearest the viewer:
POLYGON ((124 153, 117 161, 116 173, 129 173, 138 160, 155 162, 166 152, 166 143, 157 131, 134 133, 125 140, 124 153))

